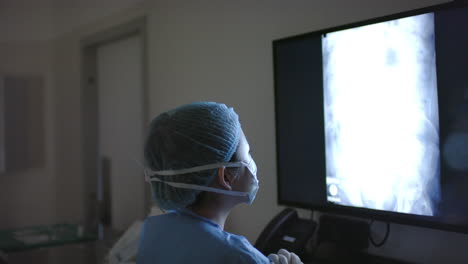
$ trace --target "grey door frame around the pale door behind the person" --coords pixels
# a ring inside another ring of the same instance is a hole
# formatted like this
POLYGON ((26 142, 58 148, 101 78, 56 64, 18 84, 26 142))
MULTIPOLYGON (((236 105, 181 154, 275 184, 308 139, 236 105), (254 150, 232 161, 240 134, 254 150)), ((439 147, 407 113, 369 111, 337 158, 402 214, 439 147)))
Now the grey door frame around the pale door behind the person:
MULTIPOLYGON (((120 24, 107 30, 94 33, 84 37, 80 41, 81 57, 81 142, 83 146, 82 166, 83 166, 83 200, 84 224, 87 230, 99 235, 99 214, 102 209, 100 201, 102 194, 98 188, 102 188, 101 172, 102 161, 99 150, 99 98, 97 86, 97 49, 99 46, 119 41, 128 37, 139 36, 142 50, 142 112, 143 112, 143 134, 144 140, 146 122, 148 120, 148 60, 147 60, 147 32, 146 17, 140 17, 127 23, 120 24)), ((143 146, 143 142, 141 142, 143 146)), ((142 158, 143 153, 141 153, 142 158)), ((142 180, 143 172, 142 172, 142 180)), ((144 207, 150 206, 150 192, 144 188, 144 207)))

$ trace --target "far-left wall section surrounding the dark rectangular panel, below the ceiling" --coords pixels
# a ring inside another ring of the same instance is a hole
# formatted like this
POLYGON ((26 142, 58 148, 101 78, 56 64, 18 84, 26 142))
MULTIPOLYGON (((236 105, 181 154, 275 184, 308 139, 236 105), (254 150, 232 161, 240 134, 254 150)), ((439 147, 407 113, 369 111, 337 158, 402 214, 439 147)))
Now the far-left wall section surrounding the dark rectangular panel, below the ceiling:
POLYGON ((0 74, 44 78, 44 167, 0 175, 0 229, 51 224, 55 219, 51 45, 46 41, 0 41, 0 74))

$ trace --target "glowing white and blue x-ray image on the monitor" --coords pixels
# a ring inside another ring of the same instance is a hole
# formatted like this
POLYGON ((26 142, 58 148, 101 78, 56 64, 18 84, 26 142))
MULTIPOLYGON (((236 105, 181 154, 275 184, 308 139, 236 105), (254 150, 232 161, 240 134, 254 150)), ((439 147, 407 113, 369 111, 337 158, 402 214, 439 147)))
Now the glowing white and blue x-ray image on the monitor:
POLYGON ((434 15, 322 37, 327 200, 435 215, 440 201, 434 15))

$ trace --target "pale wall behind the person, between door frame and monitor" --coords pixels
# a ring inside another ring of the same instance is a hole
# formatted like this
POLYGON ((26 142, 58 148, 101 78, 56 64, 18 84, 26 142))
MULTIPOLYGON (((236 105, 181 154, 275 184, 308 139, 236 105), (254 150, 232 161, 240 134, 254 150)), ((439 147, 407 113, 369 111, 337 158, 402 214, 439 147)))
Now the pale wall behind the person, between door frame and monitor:
MULTIPOLYGON (((79 40, 141 15, 148 18, 149 116, 180 104, 213 100, 233 106, 259 167, 260 191, 252 206, 236 208, 228 231, 254 242, 282 207, 276 205, 271 41, 398 11, 436 0, 157 1, 130 9, 55 41, 58 214, 79 219, 79 40)), ((307 214, 306 211, 301 211, 307 214)), ((420 263, 465 263, 465 235, 392 225, 388 244, 372 250, 420 263)))

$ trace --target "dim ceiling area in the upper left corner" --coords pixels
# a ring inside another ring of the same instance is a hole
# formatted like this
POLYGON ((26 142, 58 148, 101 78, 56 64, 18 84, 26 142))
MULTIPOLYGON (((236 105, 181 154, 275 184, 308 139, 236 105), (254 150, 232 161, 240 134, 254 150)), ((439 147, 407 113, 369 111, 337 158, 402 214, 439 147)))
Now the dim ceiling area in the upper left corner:
POLYGON ((0 0, 0 42, 46 41, 145 0, 0 0))

